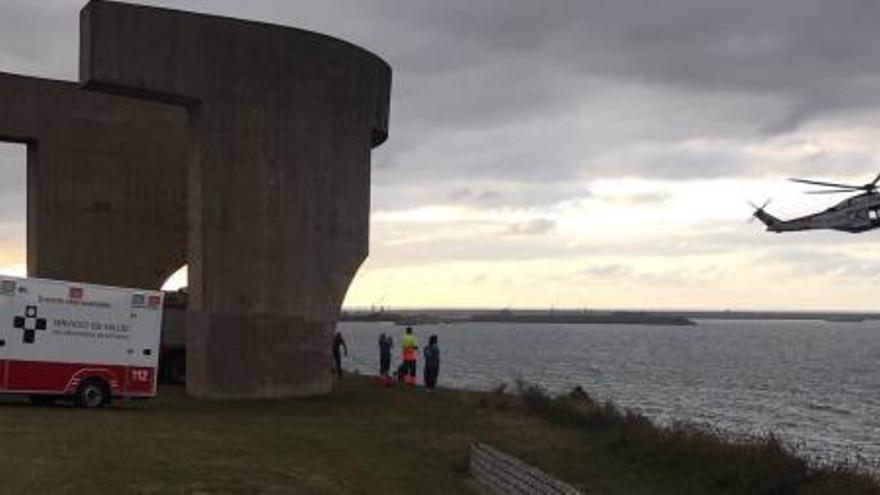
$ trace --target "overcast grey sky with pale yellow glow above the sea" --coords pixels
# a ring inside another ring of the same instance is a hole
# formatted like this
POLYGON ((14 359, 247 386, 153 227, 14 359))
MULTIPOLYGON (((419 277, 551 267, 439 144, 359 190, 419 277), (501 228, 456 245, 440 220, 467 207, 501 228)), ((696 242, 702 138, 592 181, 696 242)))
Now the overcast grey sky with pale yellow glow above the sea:
MULTIPOLYGON (((0 3, 0 71, 75 79, 82 3, 0 3)), ((141 3, 391 64, 349 305, 880 308, 880 232, 764 233, 745 203, 806 214, 843 198, 787 178, 880 172, 880 2, 141 3)), ((0 146, 7 270, 24 262, 23 164, 0 146)))

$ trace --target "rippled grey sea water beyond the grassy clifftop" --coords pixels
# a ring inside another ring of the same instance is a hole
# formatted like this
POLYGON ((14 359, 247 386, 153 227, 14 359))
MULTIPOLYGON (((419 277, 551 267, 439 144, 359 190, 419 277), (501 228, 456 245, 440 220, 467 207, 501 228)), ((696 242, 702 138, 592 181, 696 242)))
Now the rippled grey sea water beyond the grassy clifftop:
MULTIPOLYGON (((339 324, 345 366, 378 372, 378 335, 404 327, 339 324)), ((488 390, 517 378, 551 393, 580 385, 661 422, 775 432, 820 458, 880 461, 880 322, 698 320, 696 326, 458 323, 436 334, 439 384, 488 390)), ((421 363, 419 369, 421 380, 421 363)))

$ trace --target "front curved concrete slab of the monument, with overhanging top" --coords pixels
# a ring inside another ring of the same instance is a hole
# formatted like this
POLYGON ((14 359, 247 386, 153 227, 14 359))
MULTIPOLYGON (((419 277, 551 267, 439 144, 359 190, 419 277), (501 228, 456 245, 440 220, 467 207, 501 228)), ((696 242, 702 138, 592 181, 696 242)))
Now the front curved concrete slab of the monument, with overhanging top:
POLYGON ((189 113, 189 391, 329 391, 388 65, 311 32, 106 1, 83 10, 81 43, 86 87, 189 113))

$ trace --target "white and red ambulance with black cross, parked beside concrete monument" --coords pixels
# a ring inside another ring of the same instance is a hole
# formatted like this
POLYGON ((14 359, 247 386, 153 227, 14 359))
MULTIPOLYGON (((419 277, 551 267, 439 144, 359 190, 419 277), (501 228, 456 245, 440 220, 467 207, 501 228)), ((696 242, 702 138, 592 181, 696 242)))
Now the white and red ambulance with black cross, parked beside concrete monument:
POLYGON ((156 395, 159 291, 0 276, 0 394, 101 407, 156 395))

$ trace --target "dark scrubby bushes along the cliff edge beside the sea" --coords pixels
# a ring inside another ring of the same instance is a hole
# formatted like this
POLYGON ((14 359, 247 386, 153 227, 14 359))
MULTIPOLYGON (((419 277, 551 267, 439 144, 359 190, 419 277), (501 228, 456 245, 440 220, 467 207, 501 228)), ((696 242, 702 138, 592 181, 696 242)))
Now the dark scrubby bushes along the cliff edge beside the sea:
POLYGON ((732 435, 689 422, 658 426, 637 411, 599 403, 583 389, 551 397, 522 380, 516 388, 529 413, 564 428, 608 430, 607 449, 614 455, 678 472, 712 493, 880 493, 880 480, 861 466, 806 460, 773 433, 732 435))

